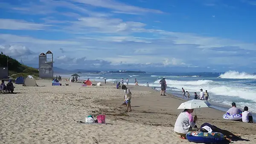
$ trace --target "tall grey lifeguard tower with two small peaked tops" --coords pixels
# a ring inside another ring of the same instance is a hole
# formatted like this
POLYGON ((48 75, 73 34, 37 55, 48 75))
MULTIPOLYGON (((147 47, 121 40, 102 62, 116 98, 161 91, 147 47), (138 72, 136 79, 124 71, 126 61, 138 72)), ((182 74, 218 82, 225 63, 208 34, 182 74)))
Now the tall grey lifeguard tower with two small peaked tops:
POLYGON ((53 78, 53 54, 48 51, 39 55, 39 78, 53 78))

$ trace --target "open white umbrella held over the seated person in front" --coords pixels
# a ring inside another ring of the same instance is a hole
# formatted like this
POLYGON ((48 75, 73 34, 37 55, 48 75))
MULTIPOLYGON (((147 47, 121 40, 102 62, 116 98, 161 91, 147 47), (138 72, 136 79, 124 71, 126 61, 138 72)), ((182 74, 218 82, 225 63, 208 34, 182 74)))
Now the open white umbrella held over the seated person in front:
POLYGON ((186 101, 178 107, 178 109, 196 109, 196 108, 202 108, 202 107, 209 107, 211 104, 209 104, 207 101, 202 100, 191 100, 186 101))

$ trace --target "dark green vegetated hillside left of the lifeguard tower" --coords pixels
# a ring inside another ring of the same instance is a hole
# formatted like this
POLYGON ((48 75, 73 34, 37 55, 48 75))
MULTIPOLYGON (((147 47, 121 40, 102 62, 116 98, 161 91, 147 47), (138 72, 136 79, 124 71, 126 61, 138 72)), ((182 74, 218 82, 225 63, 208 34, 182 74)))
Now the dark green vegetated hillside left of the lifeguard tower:
POLYGON ((1 52, 0 66, 7 66, 7 60, 9 75, 11 75, 12 78, 17 78, 19 76, 26 77, 28 75, 32 75, 33 77, 39 76, 38 69, 23 65, 14 58, 9 57, 8 55, 4 55, 3 52, 1 52))

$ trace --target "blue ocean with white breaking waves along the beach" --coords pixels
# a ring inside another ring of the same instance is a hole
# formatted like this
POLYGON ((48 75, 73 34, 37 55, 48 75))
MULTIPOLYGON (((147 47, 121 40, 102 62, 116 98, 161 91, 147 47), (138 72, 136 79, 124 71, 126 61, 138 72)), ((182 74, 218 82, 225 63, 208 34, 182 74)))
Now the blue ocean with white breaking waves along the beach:
MULTIPOLYGON (((71 74, 61 75, 70 77, 71 74)), ((250 112, 256 112, 256 75, 245 72, 191 72, 191 73, 169 73, 169 72, 147 72, 145 74, 133 73, 82 73, 79 80, 90 78, 91 81, 120 82, 124 78, 129 79, 130 84, 134 84, 134 79, 140 86, 156 87, 160 90, 159 81, 166 77, 166 91, 178 97, 182 97, 183 87, 190 93, 190 99, 194 98, 194 92, 199 95, 199 89, 209 92, 209 102, 218 106, 219 110, 227 110, 231 103, 235 102, 237 107, 249 107, 250 112)), ((216 108, 216 107, 215 107, 216 108)), ((241 109, 242 110, 242 109, 241 109)))

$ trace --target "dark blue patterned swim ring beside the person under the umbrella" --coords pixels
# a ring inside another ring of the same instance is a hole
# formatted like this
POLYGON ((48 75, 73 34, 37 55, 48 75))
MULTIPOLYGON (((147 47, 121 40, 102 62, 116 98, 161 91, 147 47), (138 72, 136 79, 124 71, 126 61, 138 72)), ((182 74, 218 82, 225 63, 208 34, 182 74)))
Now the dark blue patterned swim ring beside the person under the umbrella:
POLYGON ((220 143, 225 139, 224 135, 220 132, 187 132, 186 139, 190 142, 195 143, 205 143, 205 144, 212 144, 212 143, 220 143))

